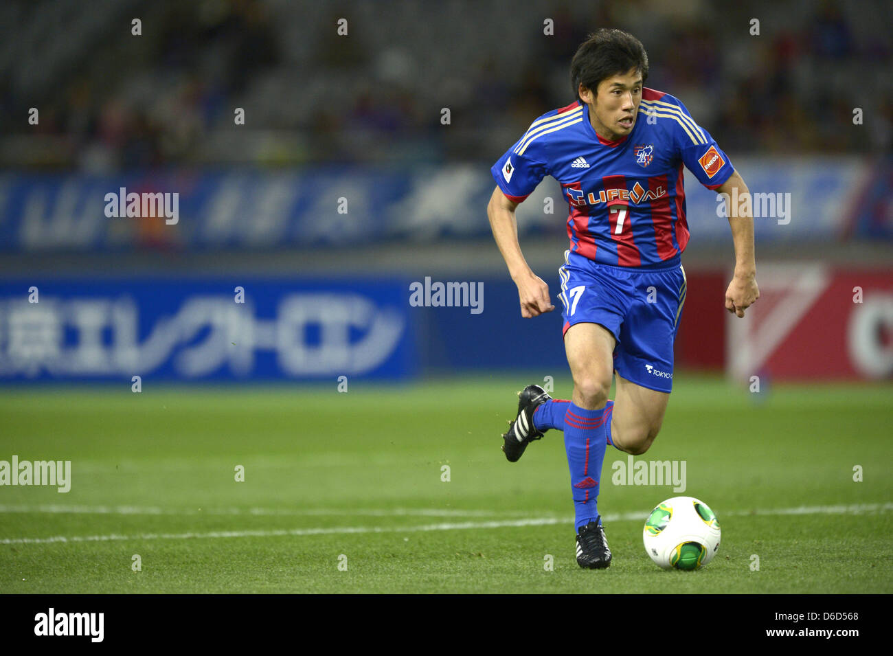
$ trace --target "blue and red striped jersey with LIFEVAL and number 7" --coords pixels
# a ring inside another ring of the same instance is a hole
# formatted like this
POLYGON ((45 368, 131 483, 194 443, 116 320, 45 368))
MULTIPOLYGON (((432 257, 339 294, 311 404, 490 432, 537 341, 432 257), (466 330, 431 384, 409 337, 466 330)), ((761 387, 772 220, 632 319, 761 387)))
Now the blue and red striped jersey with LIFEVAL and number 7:
POLYGON ((689 242, 682 165, 708 189, 734 171, 729 156, 672 95, 642 89, 636 124, 618 141, 599 137, 577 101, 540 116, 491 169, 521 203, 551 175, 570 207, 572 253, 622 267, 678 260, 689 242))

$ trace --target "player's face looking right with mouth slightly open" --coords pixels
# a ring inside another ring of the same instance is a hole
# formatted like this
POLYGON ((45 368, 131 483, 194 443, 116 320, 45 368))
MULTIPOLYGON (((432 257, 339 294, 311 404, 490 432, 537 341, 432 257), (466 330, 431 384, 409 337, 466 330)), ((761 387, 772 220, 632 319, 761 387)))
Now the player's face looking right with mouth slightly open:
POLYGON ((603 79, 597 93, 580 85, 580 98, 589 106, 589 121, 599 137, 616 141, 636 127, 642 100, 642 74, 635 69, 603 79))

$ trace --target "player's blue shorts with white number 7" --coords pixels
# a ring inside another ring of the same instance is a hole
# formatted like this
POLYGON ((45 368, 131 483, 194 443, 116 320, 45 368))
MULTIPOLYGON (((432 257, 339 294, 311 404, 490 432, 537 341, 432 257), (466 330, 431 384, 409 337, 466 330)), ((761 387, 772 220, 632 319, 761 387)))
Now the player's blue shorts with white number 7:
POLYGON ((563 333, 575 323, 601 324, 617 340, 613 370, 636 385, 669 394, 672 345, 686 291, 680 258, 630 270, 568 251, 558 275, 563 333))

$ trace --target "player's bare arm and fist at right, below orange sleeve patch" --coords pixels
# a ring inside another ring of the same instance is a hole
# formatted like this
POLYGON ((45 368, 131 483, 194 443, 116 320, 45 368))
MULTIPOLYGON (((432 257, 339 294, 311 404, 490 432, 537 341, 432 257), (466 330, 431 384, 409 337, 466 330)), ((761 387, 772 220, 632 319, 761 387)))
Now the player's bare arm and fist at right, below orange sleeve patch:
POLYGON ((735 272, 729 288, 726 289, 726 310, 743 317, 744 311, 760 297, 760 290, 756 286, 754 216, 751 210, 753 203, 730 203, 728 200, 747 198, 750 194, 737 170, 717 187, 716 192, 726 194, 731 238, 735 244, 735 272))

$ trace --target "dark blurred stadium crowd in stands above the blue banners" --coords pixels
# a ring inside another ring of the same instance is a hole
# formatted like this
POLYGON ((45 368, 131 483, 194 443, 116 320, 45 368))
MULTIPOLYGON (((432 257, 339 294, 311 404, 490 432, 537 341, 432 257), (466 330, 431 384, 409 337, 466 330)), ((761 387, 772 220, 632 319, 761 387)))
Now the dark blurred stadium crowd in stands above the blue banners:
POLYGON ((90 5, 0 4, 0 165, 494 160, 532 118, 572 100, 572 54, 600 26, 637 35, 648 86, 680 97, 729 151, 882 154, 893 140, 889 2, 90 5), (511 20, 519 7, 537 20, 511 20), (866 129, 840 129, 856 107, 866 129))

